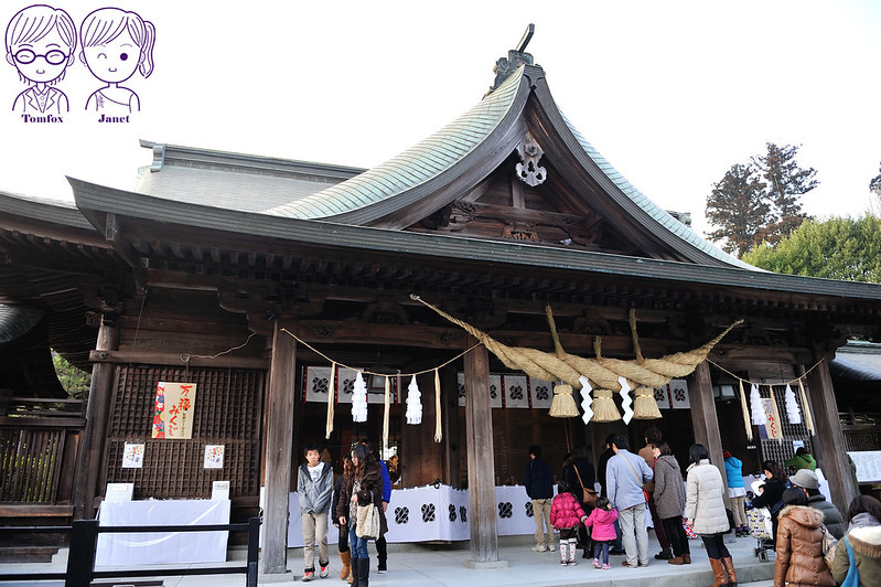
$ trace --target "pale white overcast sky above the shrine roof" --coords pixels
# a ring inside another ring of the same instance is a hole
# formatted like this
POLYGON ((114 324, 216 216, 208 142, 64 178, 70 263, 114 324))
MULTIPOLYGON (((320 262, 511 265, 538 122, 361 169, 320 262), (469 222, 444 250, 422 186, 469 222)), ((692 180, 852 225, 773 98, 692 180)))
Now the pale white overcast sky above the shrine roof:
MULTIPOLYGON (((2 2, 3 28, 28 6, 2 2)), ((99 122, 86 104, 105 84, 76 58, 55 86, 69 111, 34 122, 0 62, 0 191, 72 201, 65 175, 131 190, 152 159, 139 139, 370 168, 479 103, 529 23, 526 51, 569 120, 700 234, 713 183, 766 142, 801 146, 820 182, 802 202, 819 218, 866 212, 881 166, 874 0, 52 6, 77 29, 99 8, 137 12, 155 28, 154 67, 121 83, 140 111, 99 122)))

